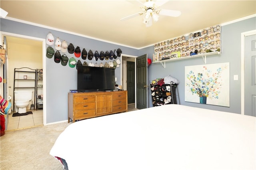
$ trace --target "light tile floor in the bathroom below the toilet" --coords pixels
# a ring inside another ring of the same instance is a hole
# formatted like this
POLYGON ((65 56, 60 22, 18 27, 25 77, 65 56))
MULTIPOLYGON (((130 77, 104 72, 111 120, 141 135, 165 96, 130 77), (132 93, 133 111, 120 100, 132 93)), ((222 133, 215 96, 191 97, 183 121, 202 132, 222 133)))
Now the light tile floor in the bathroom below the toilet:
POLYGON ((32 111, 33 114, 17 117, 12 117, 12 114, 8 115, 8 125, 6 130, 16 130, 43 125, 43 109, 27 111, 32 111))

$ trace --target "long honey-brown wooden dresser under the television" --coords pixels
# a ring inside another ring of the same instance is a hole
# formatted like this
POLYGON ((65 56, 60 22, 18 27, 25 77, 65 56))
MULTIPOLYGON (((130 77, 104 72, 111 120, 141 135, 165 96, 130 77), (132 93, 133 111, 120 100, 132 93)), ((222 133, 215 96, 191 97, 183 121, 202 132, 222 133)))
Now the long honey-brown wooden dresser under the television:
POLYGON ((68 93, 68 123, 127 110, 127 91, 68 93))

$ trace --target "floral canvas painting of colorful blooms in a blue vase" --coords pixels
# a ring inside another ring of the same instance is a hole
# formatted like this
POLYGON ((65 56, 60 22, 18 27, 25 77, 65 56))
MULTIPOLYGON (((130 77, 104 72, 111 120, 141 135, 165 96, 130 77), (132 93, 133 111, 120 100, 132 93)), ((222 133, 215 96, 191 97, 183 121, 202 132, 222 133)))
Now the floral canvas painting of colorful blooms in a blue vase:
POLYGON ((185 101, 229 107, 229 63, 185 66, 185 101))

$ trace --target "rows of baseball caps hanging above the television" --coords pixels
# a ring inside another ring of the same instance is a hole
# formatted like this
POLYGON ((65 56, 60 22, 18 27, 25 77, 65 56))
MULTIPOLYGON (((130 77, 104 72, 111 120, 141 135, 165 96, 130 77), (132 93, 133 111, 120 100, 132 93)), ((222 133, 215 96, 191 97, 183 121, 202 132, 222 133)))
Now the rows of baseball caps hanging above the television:
POLYGON ((120 63, 121 63, 120 59, 115 60, 117 57, 121 57, 122 50, 120 48, 114 49, 114 52, 113 50, 110 50, 110 52, 108 50, 106 52, 101 50, 99 53, 98 50, 95 50, 93 53, 91 49, 89 49, 87 52, 85 48, 80 48, 78 45, 73 45, 73 43, 66 42, 66 40, 61 41, 59 37, 54 36, 51 32, 49 32, 46 36, 46 44, 47 44, 46 57, 51 59, 54 56, 54 62, 61 63, 61 65, 63 66, 66 66, 68 63, 68 65, 71 68, 74 68, 74 67, 77 68, 77 65, 86 65, 91 67, 107 67, 107 68, 120 67, 120 63), (52 45, 54 45, 55 49, 52 47, 52 45), (70 55, 73 53, 75 57, 70 57, 70 55), (83 60, 86 60, 86 59, 92 60, 94 58, 94 61, 101 61, 101 63, 98 64, 98 63, 90 62, 88 64, 86 61, 84 61, 82 64, 80 57, 83 60), (76 60, 76 58, 78 60, 76 60), (106 60, 107 62, 104 63, 103 60, 106 60))

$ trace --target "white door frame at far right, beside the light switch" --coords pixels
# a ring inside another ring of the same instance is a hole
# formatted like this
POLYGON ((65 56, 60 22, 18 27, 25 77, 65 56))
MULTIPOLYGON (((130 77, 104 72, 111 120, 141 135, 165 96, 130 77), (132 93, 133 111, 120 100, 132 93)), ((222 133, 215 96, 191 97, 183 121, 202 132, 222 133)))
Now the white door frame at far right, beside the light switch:
POLYGON ((241 115, 244 115, 244 38, 256 34, 256 30, 241 33, 241 115))

